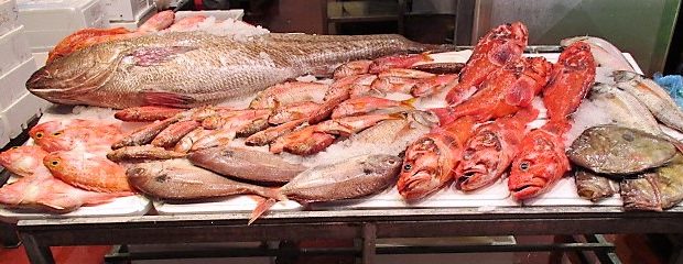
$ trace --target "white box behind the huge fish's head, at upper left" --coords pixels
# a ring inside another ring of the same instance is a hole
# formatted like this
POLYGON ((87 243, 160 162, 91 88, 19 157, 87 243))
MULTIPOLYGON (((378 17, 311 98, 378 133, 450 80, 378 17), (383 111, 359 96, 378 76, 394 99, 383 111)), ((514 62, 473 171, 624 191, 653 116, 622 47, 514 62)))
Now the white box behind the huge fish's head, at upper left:
POLYGON ((109 28, 101 0, 19 0, 17 7, 34 53, 52 50, 77 30, 109 28))

